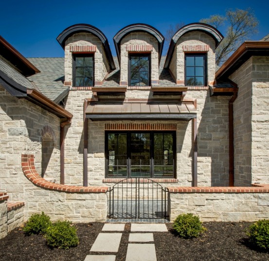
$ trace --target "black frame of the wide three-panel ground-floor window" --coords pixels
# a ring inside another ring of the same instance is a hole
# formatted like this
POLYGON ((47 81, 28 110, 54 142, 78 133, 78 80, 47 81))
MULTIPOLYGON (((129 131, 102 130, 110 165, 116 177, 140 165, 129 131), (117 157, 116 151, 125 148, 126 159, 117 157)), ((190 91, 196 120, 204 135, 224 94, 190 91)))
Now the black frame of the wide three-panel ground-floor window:
POLYGON ((121 130, 115 130, 115 131, 105 131, 105 178, 106 179, 128 179, 128 178, 145 178, 145 179, 176 179, 177 178, 177 145, 176 145, 176 137, 177 133, 176 131, 121 131, 121 130), (109 166, 109 153, 108 153, 108 134, 110 133, 126 133, 127 134, 127 176, 108 176, 108 166, 109 166), (130 171, 130 134, 131 133, 150 133, 150 177, 131 177, 131 171, 130 171), (170 133, 173 134, 173 175, 172 176, 154 176, 154 142, 153 142, 153 135, 155 133, 170 133))

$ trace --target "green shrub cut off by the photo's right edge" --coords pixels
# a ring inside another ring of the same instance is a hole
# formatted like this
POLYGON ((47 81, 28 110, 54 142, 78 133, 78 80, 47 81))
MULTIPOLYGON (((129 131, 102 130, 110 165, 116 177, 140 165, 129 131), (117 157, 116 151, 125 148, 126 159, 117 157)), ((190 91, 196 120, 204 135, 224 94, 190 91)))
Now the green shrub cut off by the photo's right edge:
POLYGON ((247 235, 251 243, 269 250, 269 220, 259 220, 249 227, 247 235))

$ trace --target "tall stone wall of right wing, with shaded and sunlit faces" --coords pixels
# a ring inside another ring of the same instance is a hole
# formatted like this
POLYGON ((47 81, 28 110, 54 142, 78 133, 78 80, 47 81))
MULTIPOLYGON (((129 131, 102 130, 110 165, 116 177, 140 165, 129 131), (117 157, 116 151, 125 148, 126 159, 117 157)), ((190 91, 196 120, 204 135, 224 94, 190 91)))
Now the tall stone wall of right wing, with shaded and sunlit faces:
POLYGON ((231 76, 234 101, 235 185, 269 182, 269 57, 251 57, 231 76))

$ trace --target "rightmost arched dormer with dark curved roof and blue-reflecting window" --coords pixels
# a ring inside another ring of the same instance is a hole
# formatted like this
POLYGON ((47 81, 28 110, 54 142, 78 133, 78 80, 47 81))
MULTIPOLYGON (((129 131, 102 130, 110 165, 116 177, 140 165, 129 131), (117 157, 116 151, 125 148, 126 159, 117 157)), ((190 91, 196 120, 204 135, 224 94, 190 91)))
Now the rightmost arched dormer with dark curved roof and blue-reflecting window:
POLYGON ((211 25, 187 24, 173 36, 164 68, 169 69, 179 85, 207 86, 214 82, 215 48, 222 39, 221 33, 211 25), (196 59, 198 69, 203 70, 203 74, 199 73, 198 76, 192 75, 192 71, 196 71, 196 59))

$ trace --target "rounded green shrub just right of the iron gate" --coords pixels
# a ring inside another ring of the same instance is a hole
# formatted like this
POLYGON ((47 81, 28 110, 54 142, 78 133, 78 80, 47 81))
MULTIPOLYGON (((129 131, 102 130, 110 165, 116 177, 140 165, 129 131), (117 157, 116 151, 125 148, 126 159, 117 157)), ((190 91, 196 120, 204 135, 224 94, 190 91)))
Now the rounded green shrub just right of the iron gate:
POLYGON ((179 237, 185 239, 197 238, 206 230, 199 218, 191 213, 179 215, 174 221, 173 228, 179 237))

